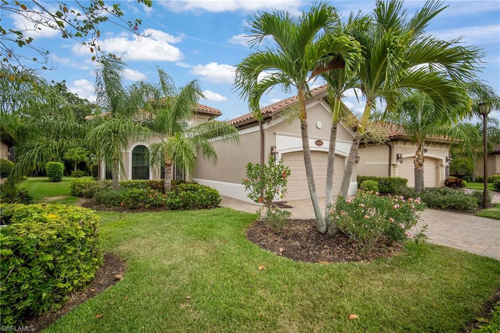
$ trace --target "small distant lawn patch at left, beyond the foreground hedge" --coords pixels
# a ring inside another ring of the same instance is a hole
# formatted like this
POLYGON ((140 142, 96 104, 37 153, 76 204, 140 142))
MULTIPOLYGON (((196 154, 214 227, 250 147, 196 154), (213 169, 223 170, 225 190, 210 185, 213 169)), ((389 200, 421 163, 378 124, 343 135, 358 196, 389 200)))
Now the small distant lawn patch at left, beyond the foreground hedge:
POLYGON ((72 197, 69 184, 74 178, 62 177, 61 182, 50 182, 47 177, 30 177, 19 184, 32 196, 35 203, 50 202, 60 204, 73 204, 78 201, 72 197))

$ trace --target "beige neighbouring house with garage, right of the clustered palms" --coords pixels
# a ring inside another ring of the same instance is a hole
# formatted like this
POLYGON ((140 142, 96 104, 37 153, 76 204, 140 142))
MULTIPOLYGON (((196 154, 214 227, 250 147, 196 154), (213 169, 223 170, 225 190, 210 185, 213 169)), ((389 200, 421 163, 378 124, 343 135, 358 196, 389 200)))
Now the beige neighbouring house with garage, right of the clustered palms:
MULTIPOLYGON (((357 173, 366 176, 401 177, 413 187, 416 146, 408 136, 392 123, 381 123, 388 133, 384 144, 360 144, 357 173)), ((442 187, 449 164, 450 142, 439 138, 429 139, 424 145, 423 177, 425 187, 442 187)))

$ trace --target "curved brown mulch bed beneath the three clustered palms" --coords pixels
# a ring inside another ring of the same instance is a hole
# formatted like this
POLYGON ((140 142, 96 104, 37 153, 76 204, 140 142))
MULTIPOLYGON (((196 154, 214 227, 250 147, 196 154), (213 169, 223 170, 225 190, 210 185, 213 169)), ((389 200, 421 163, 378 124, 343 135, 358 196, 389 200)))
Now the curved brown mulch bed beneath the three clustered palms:
POLYGON ((288 220, 286 227, 277 232, 262 221, 256 221, 245 235, 262 249, 307 263, 370 262, 377 258, 390 258, 402 247, 400 244, 379 245, 365 254, 342 233, 318 233, 314 220, 288 220))

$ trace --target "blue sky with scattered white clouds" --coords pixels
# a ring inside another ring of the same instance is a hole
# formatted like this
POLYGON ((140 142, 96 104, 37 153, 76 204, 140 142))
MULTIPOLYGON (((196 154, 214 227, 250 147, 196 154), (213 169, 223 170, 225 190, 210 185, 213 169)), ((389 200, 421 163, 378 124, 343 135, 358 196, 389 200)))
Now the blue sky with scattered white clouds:
MULTIPOLYGON (((109 2, 115 2, 109 0, 109 2)), ((46 1, 46 3, 50 3, 46 1)), ((66 1, 68 7, 71 1, 66 1)), ((157 81, 156 66, 170 74, 180 86, 198 79, 207 100, 203 104, 222 111, 221 118, 230 119, 248 112, 245 101, 232 88, 234 65, 251 50, 245 45, 245 19, 258 10, 271 7, 298 13, 307 10, 310 1, 155 1, 147 8, 135 1, 124 1, 125 16, 141 18, 142 28, 149 37, 137 41, 131 33, 114 25, 101 28, 102 48, 122 54, 127 63, 126 83, 146 79, 157 81)), ((406 1, 408 12, 424 1, 406 1)), ((438 15, 428 28, 443 39, 465 36, 463 41, 484 49, 486 56, 479 77, 500 92, 500 1, 445 1, 449 7, 438 15)), ((369 12, 373 1, 330 1, 346 17, 351 10, 369 12)), ((2 24, 20 27, 24 22, 15 17, 3 17, 2 24)), ((78 48, 74 41, 62 39, 56 31, 42 29, 34 35, 35 45, 47 48, 56 69, 42 71, 48 80, 65 79, 71 91, 92 100, 93 69, 87 49, 78 48)), ((320 84, 321 82, 316 82, 320 84)), ((287 95, 273 89, 261 99, 265 106, 287 95)), ((354 94, 346 99, 349 108, 361 107, 354 94)), ((499 116, 500 112, 495 112, 499 116)))

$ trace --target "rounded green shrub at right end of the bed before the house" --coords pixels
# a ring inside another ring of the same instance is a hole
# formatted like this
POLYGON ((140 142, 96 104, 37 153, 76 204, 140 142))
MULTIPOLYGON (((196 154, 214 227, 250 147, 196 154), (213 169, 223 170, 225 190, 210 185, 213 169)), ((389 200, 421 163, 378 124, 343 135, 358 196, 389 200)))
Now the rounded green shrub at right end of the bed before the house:
POLYGON ((176 185, 166 199, 167 207, 172 210, 214 208, 221 200, 217 190, 195 183, 176 185))

